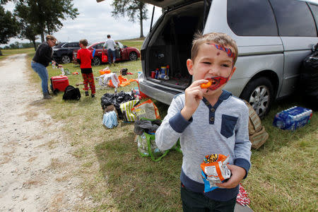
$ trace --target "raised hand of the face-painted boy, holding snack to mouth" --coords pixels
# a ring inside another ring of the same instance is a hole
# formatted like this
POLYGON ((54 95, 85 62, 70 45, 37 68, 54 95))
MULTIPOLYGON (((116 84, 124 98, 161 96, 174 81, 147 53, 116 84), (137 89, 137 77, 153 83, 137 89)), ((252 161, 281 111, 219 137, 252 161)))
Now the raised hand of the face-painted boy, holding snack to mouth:
POLYGON ((205 79, 194 81, 191 86, 185 90, 185 105, 181 110, 184 119, 189 120, 196 111, 196 108, 199 107, 203 94, 206 91, 206 88, 201 88, 200 85, 201 83, 207 82, 205 79))

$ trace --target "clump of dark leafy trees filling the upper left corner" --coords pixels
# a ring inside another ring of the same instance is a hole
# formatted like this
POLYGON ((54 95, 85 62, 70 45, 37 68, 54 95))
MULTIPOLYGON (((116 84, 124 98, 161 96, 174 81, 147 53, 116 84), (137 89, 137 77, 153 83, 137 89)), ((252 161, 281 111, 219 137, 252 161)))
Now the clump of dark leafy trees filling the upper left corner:
POLYGON ((0 44, 8 43, 11 37, 18 37, 30 40, 36 49, 37 35, 40 35, 41 41, 44 42, 45 35, 62 28, 61 20, 78 16, 78 9, 73 8, 72 1, 0 0, 0 44), (3 5, 8 1, 15 4, 13 13, 4 10, 3 5))

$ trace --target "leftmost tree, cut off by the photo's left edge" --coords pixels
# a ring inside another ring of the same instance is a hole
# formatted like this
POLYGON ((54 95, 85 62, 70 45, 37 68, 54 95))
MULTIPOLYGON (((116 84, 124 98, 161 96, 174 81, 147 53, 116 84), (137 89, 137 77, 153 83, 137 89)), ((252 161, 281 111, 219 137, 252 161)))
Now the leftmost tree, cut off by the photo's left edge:
MULTIPOLYGON (((6 1, 1 0, 1 4, 6 4, 6 1)), ((0 4, 0 44, 6 44, 11 37, 18 34, 19 25, 16 18, 10 11, 4 11, 4 7, 0 4)), ((0 55, 2 55, 0 49, 0 55)))

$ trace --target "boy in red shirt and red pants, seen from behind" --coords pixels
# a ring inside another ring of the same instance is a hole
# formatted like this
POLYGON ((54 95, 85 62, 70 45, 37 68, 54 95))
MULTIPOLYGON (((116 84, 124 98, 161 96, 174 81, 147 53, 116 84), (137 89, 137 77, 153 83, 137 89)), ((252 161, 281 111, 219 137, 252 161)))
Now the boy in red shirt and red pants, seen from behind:
POLYGON ((93 54, 90 50, 86 49, 88 42, 86 39, 79 41, 81 49, 77 52, 78 64, 81 64, 81 72, 83 76, 85 95, 88 96, 88 83, 90 84, 90 91, 92 92, 92 98, 95 97, 95 82, 92 71, 92 59, 93 54))

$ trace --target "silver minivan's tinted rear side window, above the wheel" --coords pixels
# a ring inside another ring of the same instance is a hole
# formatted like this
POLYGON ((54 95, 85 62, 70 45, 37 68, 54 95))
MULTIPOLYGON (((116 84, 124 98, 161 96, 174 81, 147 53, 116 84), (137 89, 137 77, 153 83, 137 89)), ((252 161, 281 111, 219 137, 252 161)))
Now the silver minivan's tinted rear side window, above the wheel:
POLYGON ((228 0, 228 25, 236 35, 278 36, 269 1, 228 0))

